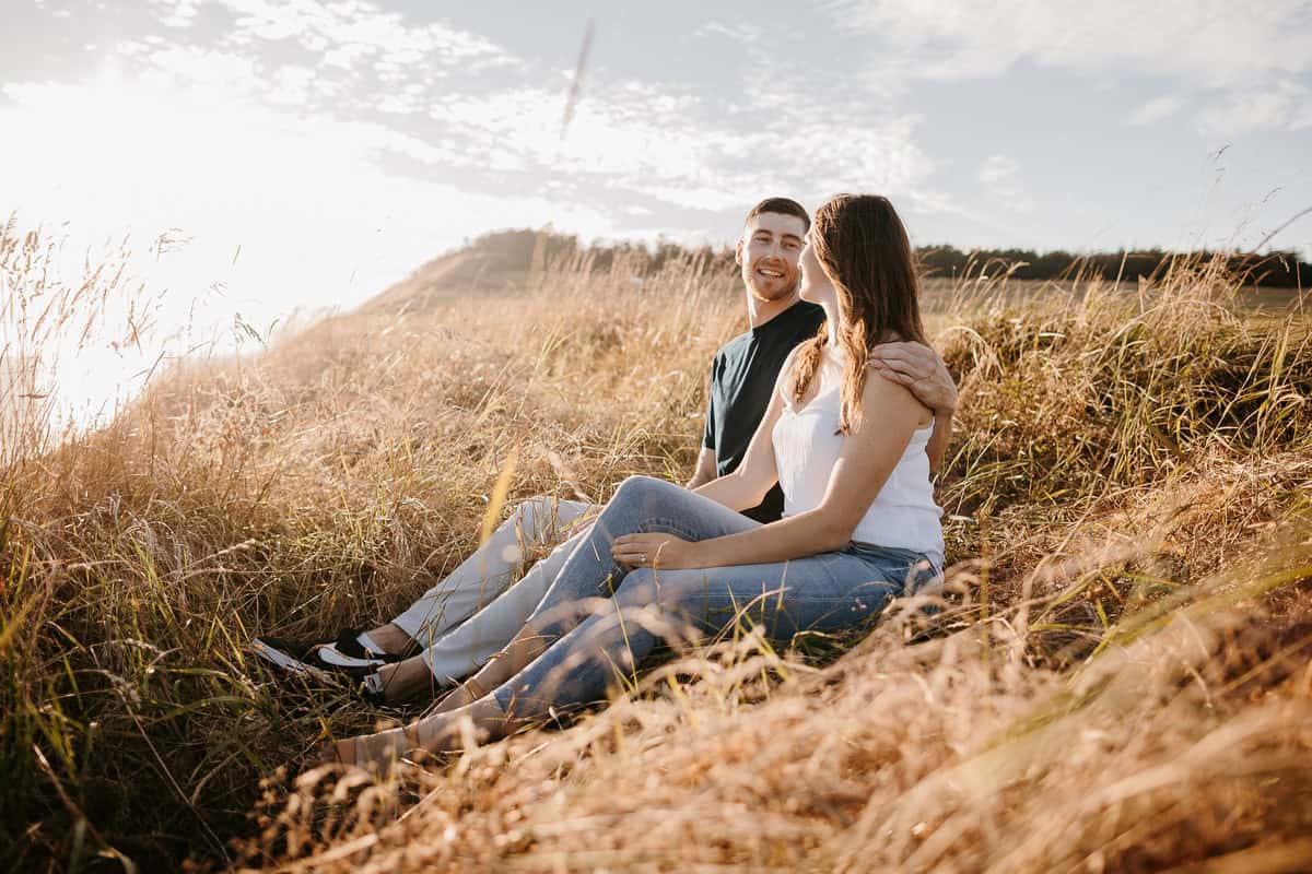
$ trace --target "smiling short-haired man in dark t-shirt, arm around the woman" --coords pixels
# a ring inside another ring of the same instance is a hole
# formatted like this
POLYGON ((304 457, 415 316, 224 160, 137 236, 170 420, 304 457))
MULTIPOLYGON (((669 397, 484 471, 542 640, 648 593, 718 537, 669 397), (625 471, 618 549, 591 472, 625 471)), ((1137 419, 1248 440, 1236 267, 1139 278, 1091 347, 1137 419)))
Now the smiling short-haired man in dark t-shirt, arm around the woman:
MULTIPOLYGON (((743 276, 750 329, 715 354, 702 449, 689 487, 737 468, 765 415, 785 359, 798 343, 815 337, 824 322, 820 307, 798 299, 798 258, 810 227, 807 211, 787 198, 761 200, 744 221, 735 262, 743 276)), ((956 388, 942 360, 920 343, 887 343, 872 354, 872 366, 934 410, 926 452, 930 472, 937 472, 956 406, 956 388)), ((485 545, 387 625, 362 634, 344 632, 336 643, 303 646, 256 639, 253 649, 293 671, 358 676, 366 694, 379 700, 432 694, 476 671, 523 628, 583 535, 573 533, 510 586, 522 548, 550 545, 589 508, 577 502, 530 498, 516 507, 485 545), (416 647, 419 655, 401 660, 416 647)), ((773 522, 782 511, 783 493, 775 485, 747 515, 773 522)))

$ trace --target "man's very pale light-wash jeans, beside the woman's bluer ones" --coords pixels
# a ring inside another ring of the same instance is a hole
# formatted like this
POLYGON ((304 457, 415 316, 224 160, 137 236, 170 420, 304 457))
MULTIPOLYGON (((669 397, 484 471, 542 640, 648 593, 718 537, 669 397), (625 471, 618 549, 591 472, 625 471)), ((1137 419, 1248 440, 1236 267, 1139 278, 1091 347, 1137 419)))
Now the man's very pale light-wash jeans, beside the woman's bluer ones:
POLYGON ((440 683, 474 674, 523 628, 577 539, 512 586, 525 553, 556 542, 590 508, 577 501, 529 498, 483 546, 392 620, 422 647, 421 656, 440 683))

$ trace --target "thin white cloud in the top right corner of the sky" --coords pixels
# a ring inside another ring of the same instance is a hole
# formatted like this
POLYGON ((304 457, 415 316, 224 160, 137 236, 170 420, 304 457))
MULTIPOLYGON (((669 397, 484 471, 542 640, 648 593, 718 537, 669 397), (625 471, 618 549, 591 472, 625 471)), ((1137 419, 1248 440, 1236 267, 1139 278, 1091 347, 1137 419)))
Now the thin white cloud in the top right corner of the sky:
POLYGON ((1147 126, 1187 104, 1195 128, 1236 136, 1305 126, 1312 72, 1309 0, 829 0, 848 33, 878 41, 865 76, 897 92, 917 79, 1001 76, 1019 64, 1085 76, 1176 80, 1131 110, 1147 126))

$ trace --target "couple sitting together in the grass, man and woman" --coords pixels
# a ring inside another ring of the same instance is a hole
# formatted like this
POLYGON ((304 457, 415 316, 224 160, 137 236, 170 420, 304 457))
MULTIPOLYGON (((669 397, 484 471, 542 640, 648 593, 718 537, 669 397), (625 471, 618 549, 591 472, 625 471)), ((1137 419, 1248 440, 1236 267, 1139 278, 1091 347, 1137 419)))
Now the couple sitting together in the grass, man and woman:
POLYGON ((715 634, 745 618, 786 645, 878 617, 941 578, 930 476, 956 389, 925 345, 892 204, 838 195, 812 225, 796 202, 770 198, 748 215, 736 253, 752 329, 715 355, 686 487, 626 480, 593 524, 510 586, 521 539, 547 546, 590 510, 530 499, 392 622, 314 647, 256 642, 293 670, 356 672, 375 700, 468 677, 422 718, 340 740, 329 759, 386 768, 457 748, 466 718, 500 738, 604 700, 617 670, 665 633, 715 634))

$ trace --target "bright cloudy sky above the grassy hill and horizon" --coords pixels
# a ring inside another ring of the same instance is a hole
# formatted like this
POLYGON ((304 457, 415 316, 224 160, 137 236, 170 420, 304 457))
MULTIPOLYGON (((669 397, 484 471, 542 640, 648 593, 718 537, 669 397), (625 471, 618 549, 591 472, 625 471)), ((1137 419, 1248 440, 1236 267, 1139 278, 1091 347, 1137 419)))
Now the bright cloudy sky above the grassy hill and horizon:
POLYGON ((729 242, 768 195, 1080 252, 1312 207, 1312 0, 0 3, 0 216, 130 235, 161 324, 349 309, 493 228, 729 242))

